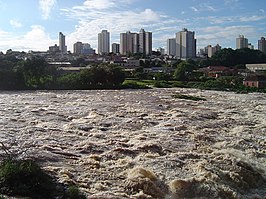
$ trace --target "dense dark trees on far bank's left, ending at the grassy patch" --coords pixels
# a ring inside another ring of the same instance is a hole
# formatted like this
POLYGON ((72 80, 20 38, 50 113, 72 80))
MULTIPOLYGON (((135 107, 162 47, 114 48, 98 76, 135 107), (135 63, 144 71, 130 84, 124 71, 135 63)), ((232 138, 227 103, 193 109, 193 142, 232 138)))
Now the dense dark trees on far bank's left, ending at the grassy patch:
POLYGON ((64 74, 40 57, 21 61, 7 56, 0 60, 1 90, 108 89, 118 88, 124 80, 123 69, 111 64, 64 74))

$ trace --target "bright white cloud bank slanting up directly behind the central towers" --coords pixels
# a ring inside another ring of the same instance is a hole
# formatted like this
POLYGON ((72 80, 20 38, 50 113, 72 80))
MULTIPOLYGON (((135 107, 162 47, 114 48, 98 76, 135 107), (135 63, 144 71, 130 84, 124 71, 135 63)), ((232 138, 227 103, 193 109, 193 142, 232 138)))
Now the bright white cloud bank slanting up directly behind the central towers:
MULTIPOLYGON (((108 15, 107 15, 108 16, 108 15)), ((142 12, 123 11, 114 13, 108 17, 103 13, 95 19, 79 21, 76 30, 68 36, 68 45, 73 45, 78 40, 89 42, 94 48, 97 47, 97 35, 102 29, 111 32, 113 39, 118 40, 121 32, 139 31, 140 28, 149 28, 149 24, 157 23, 160 15, 150 9, 142 12), (135 30, 133 28, 136 28, 135 30), (132 30, 133 29, 133 30, 132 30)), ((149 31, 149 29, 146 29, 149 31)), ((70 49, 72 46, 70 46, 70 49)))

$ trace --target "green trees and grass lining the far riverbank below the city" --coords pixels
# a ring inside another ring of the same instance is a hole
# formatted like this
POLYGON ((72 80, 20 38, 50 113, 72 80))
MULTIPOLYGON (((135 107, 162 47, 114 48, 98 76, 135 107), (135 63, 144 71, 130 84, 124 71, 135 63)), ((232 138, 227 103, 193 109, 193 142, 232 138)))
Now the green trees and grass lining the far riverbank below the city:
MULTIPOLYGON (((136 58, 138 58, 138 54, 136 58)), ((134 55, 133 55, 134 57, 134 55)), ((181 61, 166 64, 160 61, 140 61, 134 72, 125 72, 114 64, 98 64, 83 59, 73 61, 80 66, 90 65, 89 69, 77 73, 64 74, 41 57, 25 61, 12 54, 0 55, 0 90, 60 90, 60 89, 121 89, 149 87, 185 87, 237 92, 265 92, 265 89, 243 86, 242 76, 220 78, 205 77, 197 69, 207 66, 227 66, 245 69, 248 63, 266 63, 266 54, 251 49, 222 49, 213 57, 200 61, 181 61), (169 73, 147 73, 143 68, 160 66, 170 68, 169 73)))

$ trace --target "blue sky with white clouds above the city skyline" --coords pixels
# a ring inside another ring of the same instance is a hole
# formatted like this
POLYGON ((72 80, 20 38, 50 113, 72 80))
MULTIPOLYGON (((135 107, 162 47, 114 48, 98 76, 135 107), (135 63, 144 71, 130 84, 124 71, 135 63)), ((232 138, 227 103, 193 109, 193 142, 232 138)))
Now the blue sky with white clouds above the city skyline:
POLYGON ((187 28, 197 48, 220 44, 235 48, 239 34, 257 48, 266 37, 265 0, 0 0, 0 51, 48 50, 66 35, 69 50, 77 41, 97 48, 102 29, 119 43, 121 32, 153 32, 153 48, 187 28))

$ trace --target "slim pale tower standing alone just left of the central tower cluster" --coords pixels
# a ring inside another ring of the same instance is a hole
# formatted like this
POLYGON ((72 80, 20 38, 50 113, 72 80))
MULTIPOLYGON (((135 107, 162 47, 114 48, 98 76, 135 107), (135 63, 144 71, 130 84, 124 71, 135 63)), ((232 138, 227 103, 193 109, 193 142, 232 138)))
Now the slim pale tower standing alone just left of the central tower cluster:
POLYGON ((108 54, 110 52, 110 33, 102 30, 98 34, 98 54, 108 54))

